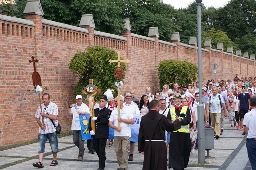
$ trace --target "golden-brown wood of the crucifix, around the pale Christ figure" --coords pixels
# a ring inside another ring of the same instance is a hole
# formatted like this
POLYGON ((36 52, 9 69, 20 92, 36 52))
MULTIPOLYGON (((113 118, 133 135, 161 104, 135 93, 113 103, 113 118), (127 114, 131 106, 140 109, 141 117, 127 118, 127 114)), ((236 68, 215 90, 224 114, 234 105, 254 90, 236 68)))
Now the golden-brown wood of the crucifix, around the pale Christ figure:
MULTIPOLYGON (((87 95, 87 97, 91 98, 91 101, 93 102, 92 105, 90 105, 89 103, 89 109, 90 109, 90 106, 92 108, 92 110, 90 110, 90 114, 91 114, 91 120, 93 120, 93 117, 95 116, 94 115, 94 95, 95 94, 100 94, 101 93, 101 89, 98 89, 97 86, 93 85, 93 79, 89 79, 89 84, 84 87, 84 90, 82 90, 82 94, 83 95, 87 95), (87 90, 87 87, 93 87, 95 90, 93 92, 90 92, 88 93, 86 90, 87 90)), ((88 101, 89 102, 89 101, 88 101)), ((94 121, 91 121, 91 129, 93 129, 94 133, 95 133, 95 122, 94 121)))

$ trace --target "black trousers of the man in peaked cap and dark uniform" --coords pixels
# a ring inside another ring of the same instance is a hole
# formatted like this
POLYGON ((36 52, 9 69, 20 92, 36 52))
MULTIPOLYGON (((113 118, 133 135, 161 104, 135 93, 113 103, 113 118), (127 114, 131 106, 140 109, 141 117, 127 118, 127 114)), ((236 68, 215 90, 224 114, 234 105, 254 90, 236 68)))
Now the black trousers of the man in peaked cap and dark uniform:
POLYGON ((107 139, 93 139, 94 150, 99 157, 99 168, 105 168, 106 160, 106 140, 107 139))

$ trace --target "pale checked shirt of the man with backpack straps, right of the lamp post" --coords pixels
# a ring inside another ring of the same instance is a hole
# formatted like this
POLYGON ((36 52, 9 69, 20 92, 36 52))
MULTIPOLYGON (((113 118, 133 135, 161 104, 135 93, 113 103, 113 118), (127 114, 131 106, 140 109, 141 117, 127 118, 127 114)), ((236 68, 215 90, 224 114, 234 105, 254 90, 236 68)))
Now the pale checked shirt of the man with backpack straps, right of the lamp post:
POLYGON ((221 113, 221 103, 224 103, 223 98, 220 94, 217 93, 216 96, 213 96, 213 94, 211 94, 208 99, 207 99, 207 103, 210 103, 210 113, 221 113), (210 103, 210 96, 211 96, 211 103, 210 103), (221 101, 219 101, 219 97, 221 96, 221 101))

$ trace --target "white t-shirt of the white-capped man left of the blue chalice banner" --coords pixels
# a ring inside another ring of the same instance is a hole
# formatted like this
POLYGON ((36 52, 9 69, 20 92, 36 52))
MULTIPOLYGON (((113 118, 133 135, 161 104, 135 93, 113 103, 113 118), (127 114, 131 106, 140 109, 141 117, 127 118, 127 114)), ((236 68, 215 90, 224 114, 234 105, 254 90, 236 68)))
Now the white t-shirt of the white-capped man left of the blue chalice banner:
POLYGON ((86 112, 86 113, 90 113, 90 111, 89 111, 89 107, 84 103, 82 103, 81 106, 77 106, 77 103, 76 103, 75 106, 77 107, 77 109, 75 107, 71 108, 71 113, 73 116, 71 130, 80 131, 81 125, 80 125, 79 114, 77 114, 77 111, 86 112))

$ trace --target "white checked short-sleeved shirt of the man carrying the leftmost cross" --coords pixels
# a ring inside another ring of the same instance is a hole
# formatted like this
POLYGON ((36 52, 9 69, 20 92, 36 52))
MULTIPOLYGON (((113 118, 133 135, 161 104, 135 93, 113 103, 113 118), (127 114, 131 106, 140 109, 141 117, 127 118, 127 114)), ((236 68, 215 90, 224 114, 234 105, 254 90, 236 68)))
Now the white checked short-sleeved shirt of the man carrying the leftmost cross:
MULTIPOLYGON (((52 107, 47 111, 47 113, 49 115, 57 115, 58 116, 58 106, 55 103, 52 103, 52 107)), ((48 106, 47 106, 48 107, 48 106)), ((44 104, 42 104, 42 110, 44 111, 47 107, 44 106, 44 104)), ((37 113, 35 114, 36 118, 40 119, 40 122, 43 124, 42 122, 42 116, 40 115, 41 109, 40 106, 38 106, 37 108, 37 113)), ((55 123, 55 126, 58 126, 58 120, 53 120, 53 122, 55 123)), ((42 128, 39 126, 39 133, 40 134, 48 134, 48 133, 55 133, 55 128, 54 125, 51 121, 51 119, 44 117, 44 124, 45 126, 45 130, 42 130, 42 128)))

